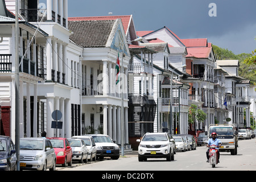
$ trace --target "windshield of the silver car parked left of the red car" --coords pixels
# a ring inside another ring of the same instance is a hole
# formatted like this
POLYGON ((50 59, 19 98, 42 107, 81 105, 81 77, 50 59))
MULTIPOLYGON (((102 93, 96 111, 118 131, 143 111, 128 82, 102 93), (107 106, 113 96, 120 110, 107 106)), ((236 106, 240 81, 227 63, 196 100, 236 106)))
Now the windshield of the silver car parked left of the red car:
POLYGON ((20 140, 20 150, 43 150, 43 140, 20 140))

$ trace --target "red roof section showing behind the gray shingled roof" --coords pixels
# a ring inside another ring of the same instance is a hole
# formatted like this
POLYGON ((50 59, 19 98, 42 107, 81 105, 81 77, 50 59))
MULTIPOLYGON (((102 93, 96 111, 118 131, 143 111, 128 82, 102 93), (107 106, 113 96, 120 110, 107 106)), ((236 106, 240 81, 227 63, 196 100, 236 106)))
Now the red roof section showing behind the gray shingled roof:
POLYGON ((127 29, 129 27, 131 15, 125 16, 89 16, 89 17, 71 17, 68 18, 69 21, 86 21, 86 20, 115 20, 121 19, 123 24, 123 29, 125 34, 127 34, 127 29))

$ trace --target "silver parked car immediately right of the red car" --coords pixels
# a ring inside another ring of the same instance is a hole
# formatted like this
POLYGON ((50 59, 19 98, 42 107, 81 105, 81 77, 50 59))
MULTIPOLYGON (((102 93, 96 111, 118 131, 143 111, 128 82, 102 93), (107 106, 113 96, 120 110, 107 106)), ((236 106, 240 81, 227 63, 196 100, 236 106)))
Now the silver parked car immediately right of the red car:
POLYGON ((72 160, 78 160, 79 163, 88 161, 88 150, 84 140, 78 138, 68 139, 68 142, 72 148, 73 157, 72 160))

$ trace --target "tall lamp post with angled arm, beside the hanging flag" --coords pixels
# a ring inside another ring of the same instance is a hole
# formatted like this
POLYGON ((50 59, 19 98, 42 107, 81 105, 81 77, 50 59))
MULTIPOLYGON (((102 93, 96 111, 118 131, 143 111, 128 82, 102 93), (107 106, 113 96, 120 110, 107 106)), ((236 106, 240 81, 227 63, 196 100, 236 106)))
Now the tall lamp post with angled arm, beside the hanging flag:
POLYGON ((122 80, 121 80, 121 83, 122 83, 122 93, 121 93, 121 98, 122 98, 122 100, 121 100, 121 155, 123 156, 124 155, 124 134, 125 134, 125 132, 124 132, 124 126, 125 126, 125 118, 124 118, 124 111, 123 111, 123 75, 124 75, 124 73, 123 73, 123 46, 125 46, 125 44, 128 44, 128 43, 131 43, 131 42, 138 42, 138 41, 141 41, 143 38, 142 37, 139 37, 139 38, 137 38, 137 39, 134 39, 134 40, 131 40, 131 41, 129 41, 129 42, 126 42, 126 43, 123 43, 122 44, 122 67, 121 67, 121 78, 122 78, 122 80))

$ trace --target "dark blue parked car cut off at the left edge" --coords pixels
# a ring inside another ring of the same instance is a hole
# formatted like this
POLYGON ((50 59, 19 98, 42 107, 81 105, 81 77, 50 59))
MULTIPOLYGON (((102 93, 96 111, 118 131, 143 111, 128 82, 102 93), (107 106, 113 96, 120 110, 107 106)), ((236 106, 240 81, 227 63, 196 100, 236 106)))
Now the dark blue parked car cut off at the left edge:
POLYGON ((7 136, 0 136, 0 170, 15 171, 16 152, 13 140, 7 136))

